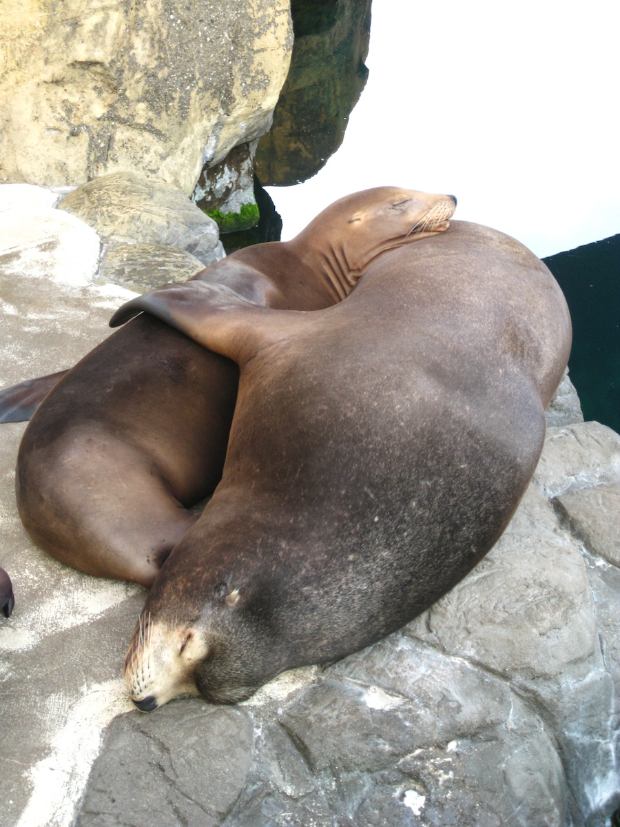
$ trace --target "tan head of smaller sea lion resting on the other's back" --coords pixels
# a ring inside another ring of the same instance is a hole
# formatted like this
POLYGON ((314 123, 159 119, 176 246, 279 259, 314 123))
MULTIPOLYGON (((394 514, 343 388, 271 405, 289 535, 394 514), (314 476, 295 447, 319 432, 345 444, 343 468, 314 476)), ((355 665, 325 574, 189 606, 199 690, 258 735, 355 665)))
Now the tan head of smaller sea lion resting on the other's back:
POLYGON ((455 207, 454 195, 402 187, 364 189, 330 204, 290 243, 314 269, 326 273, 344 299, 381 253, 444 232, 455 207))

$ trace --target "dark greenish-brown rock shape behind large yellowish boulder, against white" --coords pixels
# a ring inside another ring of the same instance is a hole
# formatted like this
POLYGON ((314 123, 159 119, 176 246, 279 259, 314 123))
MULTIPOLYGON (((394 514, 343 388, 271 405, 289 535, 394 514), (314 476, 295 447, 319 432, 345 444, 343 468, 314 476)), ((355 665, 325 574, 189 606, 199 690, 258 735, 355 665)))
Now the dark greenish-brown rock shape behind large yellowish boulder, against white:
POLYGON ((295 42, 274 124, 256 150, 263 186, 305 181, 341 145, 365 87, 370 0, 293 0, 295 42))

